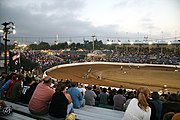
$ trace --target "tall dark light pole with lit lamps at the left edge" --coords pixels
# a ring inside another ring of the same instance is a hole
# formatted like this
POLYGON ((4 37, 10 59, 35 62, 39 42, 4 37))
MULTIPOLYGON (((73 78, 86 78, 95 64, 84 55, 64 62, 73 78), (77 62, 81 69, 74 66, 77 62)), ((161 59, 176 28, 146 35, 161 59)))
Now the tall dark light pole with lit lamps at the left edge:
POLYGON ((7 73, 7 42, 10 41, 10 40, 8 40, 7 35, 10 33, 15 34, 16 30, 15 30, 15 25, 13 22, 4 22, 1 25, 4 26, 4 28, 3 28, 4 53, 5 53, 5 55, 4 55, 4 67, 5 67, 5 72, 7 73))

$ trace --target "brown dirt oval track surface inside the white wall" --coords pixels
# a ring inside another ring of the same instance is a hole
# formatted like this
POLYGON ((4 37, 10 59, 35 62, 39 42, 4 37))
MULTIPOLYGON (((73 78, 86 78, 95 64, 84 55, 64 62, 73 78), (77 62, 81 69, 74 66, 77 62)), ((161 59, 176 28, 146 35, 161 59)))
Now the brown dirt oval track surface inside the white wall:
POLYGON ((180 91, 180 70, 168 67, 140 67, 119 65, 79 65, 55 69, 47 73, 55 79, 72 79, 73 81, 88 83, 93 85, 120 87, 137 89, 140 86, 148 86, 151 90, 159 91, 164 85, 170 92, 180 91), (91 72, 87 79, 83 76, 91 72), (101 80, 97 76, 101 75, 101 80))

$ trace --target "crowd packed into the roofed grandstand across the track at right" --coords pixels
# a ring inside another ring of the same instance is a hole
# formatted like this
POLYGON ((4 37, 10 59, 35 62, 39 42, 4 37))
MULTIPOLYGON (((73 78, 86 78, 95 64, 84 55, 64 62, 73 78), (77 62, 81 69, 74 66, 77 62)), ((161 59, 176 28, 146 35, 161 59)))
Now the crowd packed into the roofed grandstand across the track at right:
POLYGON ((127 63, 177 65, 180 63, 180 51, 170 48, 123 47, 114 51, 110 60, 127 63))

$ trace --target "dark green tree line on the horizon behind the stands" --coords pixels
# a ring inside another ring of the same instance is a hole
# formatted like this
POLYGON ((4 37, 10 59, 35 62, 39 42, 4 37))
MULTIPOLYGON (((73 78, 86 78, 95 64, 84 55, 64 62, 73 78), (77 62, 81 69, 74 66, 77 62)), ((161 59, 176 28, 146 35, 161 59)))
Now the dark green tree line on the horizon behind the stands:
MULTIPOLYGON (((17 48, 18 45, 17 44, 13 44, 13 45, 8 45, 7 46, 8 49, 14 49, 17 48)), ((68 44, 67 42, 63 42, 63 43, 58 43, 58 44, 54 44, 54 45, 50 45, 48 42, 40 42, 39 44, 30 44, 27 46, 26 49, 30 49, 30 50, 47 50, 47 49, 51 49, 51 50, 59 50, 59 49, 71 49, 71 50, 78 50, 78 49, 84 49, 84 50, 92 50, 93 49, 93 42, 89 41, 89 40, 84 40, 83 43, 71 43, 68 44)), ((95 50, 112 50, 115 49, 115 45, 106 45, 103 44, 102 40, 94 40, 94 49, 95 50)), ((4 44, 1 43, 1 51, 4 50, 4 44)))

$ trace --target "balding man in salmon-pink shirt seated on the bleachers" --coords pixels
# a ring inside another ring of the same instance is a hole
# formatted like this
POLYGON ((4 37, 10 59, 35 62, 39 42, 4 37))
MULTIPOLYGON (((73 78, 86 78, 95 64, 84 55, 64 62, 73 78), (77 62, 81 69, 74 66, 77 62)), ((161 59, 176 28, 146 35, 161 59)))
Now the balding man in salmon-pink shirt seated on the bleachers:
POLYGON ((39 83, 29 101, 29 111, 33 114, 43 115, 48 113, 49 104, 55 90, 50 88, 51 78, 49 76, 43 79, 43 83, 39 83))

